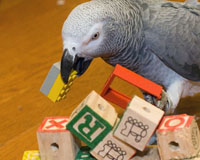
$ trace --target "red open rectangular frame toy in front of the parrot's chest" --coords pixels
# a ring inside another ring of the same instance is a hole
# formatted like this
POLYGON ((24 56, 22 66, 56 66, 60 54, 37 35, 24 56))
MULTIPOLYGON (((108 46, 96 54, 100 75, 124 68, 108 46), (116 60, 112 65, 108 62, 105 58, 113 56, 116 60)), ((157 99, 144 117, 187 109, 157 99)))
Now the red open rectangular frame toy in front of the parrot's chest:
POLYGON ((119 77, 127 81, 128 83, 155 96, 157 99, 161 99, 162 87, 160 85, 157 85, 156 83, 117 64, 113 73, 108 78, 101 92, 101 96, 106 100, 119 105, 122 108, 126 108, 128 106, 128 103, 130 102, 131 98, 110 88, 110 85, 115 77, 119 77))

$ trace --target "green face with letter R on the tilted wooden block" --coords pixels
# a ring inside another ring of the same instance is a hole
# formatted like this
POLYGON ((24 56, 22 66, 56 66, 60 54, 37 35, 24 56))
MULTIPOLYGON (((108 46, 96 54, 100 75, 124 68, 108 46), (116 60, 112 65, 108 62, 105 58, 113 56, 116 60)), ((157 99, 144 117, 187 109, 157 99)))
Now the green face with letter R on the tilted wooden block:
POLYGON ((112 126, 85 105, 67 124, 67 129, 93 149, 112 130, 112 126))

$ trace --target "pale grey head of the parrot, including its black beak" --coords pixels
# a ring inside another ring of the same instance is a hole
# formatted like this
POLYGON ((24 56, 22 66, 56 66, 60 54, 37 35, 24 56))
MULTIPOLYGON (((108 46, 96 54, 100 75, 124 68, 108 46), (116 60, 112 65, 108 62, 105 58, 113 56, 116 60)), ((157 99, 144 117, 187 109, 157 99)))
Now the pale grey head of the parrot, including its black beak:
POLYGON ((62 28, 61 60, 61 76, 65 83, 72 69, 81 76, 94 58, 114 56, 126 47, 124 43, 130 41, 126 36, 132 21, 128 21, 130 25, 124 25, 130 12, 119 16, 119 10, 125 5, 113 6, 116 3, 120 2, 93 0, 78 5, 67 17, 62 28))

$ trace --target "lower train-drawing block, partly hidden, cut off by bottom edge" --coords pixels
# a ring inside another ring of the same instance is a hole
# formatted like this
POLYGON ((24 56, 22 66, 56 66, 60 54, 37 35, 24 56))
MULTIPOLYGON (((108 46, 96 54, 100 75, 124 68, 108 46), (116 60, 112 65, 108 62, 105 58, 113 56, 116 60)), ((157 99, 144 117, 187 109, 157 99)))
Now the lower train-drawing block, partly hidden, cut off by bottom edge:
POLYGON ((110 133, 91 151, 98 160, 130 160, 136 150, 123 143, 110 133))

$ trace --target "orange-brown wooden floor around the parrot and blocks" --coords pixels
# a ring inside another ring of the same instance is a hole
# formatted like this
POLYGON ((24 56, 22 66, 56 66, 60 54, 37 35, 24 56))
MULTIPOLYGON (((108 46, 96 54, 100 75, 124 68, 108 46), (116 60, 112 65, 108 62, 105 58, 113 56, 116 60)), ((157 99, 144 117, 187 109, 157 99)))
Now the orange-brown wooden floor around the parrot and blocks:
MULTIPOLYGON (((20 160, 38 149, 36 130, 47 116, 69 116, 91 91, 101 92, 112 67, 96 59, 77 78, 67 99, 52 103, 40 93, 51 67, 62 56, 61 28, 69 12, 84 0, 0 0, 0 159, 20 160), (98 70, 98 72, 97 72, 98 70)), ((119 83, 118 83, 119 84, 119 83)), ((116 86, 129 95, 135 88, 116 86)), ((121 109, 116 107, 119 112, 121 109)), ((178 113, 200 115, 200 95, 183 99, 178 113)))

